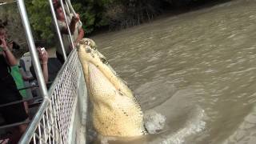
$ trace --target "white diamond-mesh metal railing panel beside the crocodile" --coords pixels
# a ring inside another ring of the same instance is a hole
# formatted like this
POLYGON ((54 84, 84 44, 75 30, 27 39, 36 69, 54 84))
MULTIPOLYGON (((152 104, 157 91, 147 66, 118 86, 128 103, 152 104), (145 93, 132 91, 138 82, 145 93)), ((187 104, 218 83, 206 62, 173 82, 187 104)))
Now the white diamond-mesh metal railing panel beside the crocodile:
POLYGON ((70 143, 71 130, 78 125, 74 122, 78 95, 86 97, 85 85, 80 82, 84 80, 81 69, 77 51, 73 50, 50 87, 49 100, 44 99, 19 143, 70 143))

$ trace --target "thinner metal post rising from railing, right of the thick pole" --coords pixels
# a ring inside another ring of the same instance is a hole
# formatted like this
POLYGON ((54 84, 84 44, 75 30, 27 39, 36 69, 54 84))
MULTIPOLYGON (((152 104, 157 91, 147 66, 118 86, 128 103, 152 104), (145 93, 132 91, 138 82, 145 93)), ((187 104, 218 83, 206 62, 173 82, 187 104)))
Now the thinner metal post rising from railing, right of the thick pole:
POLYGON ((54 26, 55 26, 55 29, 57 30, 58 40, 61 43, 63 58, 66 62, 66 51, 65 51, 65 47, 64 47, 63 41, 62 41, 61 30, 59 30, 59 28, 58 28, 58 21, 57 21, 55 10, 54 10, 54 3, 53 3, 52 0, 48 0, 48 1, 49 1, 49 4, 50 4, 51 14, 53 15, 53 18, 54 18, 54 26))

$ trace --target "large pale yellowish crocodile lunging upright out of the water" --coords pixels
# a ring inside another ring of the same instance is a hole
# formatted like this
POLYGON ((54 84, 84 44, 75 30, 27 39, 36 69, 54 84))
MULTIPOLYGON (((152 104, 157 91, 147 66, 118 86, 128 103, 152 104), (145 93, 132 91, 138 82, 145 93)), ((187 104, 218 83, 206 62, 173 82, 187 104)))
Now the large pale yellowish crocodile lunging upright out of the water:
POLYGON ((93 107, 91 118, 98 134, 114 137, 147 134, 138 100, 96 49, 95 42, 83 38, 77 50, 93 107))

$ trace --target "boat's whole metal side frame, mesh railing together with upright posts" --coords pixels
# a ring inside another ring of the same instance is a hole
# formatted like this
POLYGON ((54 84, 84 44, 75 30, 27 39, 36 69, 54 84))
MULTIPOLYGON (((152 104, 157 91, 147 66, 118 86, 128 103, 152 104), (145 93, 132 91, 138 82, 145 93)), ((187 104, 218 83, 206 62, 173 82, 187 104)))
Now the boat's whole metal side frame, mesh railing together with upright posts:
MULTIPOLYGON (((77 138, 79 141, 86 139, 85 134, 83 134, 86 132, 86 103, 81 104, 81 101, 87 102, 87 95, 82 66, 78 60, 76 50, 72 50, 69 57, 66 58, 66 51, 63 46, 61 32, 58 29, 52 0, 49 0, 49 3, 54 18, 54 26, 57 30, 63 57, 66 62, 58 72, 58 76, 55 78, 50 90, 47 92, 38 54, 34 46, 34 38, 30 30, 30 23, 26 14, 26 7, 23 0, 17 0, 18 10, 21 14, 22 24, 26 30, 26 38, 29 43, 30 54, 38 79, 39 90, 43 97, 37 114, 35 114, 33 120, 30 122, 25 134, 22 135, 22 138, 18 142, 19 144, 29 144, 30 142, 34 144, 74 143, 77 138)), ((72 38, 71 42, 74 46, 72 38)))

